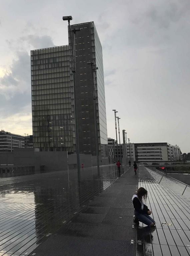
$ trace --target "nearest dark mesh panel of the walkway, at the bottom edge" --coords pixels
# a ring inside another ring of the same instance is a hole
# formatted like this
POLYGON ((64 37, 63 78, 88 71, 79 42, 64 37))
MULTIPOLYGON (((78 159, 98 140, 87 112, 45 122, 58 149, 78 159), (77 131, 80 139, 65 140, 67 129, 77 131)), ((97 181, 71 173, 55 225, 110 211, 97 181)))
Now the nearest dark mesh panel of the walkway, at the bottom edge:
MULTIPOLYGON (((34 251, 35 256, 132 256, 135 245, 128 241, 101 240, 82 237, 52 237, 34 251), (51 246, 50 246, 51 245, 51 246), (48 253, 47 253, 48 248, 48 253)), ((32 254, 30 254, 31 256, 32 254)))

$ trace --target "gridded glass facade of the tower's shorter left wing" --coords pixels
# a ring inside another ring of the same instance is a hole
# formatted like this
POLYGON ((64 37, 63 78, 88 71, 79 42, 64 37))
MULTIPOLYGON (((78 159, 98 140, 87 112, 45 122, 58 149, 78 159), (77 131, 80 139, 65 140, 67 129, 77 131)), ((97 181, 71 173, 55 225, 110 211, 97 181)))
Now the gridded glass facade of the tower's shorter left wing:
POLYGON ((33 144, 74 152, 69 46, 31 51, 33 144))

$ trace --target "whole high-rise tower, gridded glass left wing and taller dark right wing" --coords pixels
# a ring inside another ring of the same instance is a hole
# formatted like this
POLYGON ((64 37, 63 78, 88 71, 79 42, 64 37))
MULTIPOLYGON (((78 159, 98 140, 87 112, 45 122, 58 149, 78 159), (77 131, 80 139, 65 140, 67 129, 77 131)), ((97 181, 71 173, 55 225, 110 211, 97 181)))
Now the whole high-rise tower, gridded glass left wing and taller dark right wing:
MULTIPOLYGON (((80 27, 76 46, 76 90, 80 153, 96 155, 93 99, 93 61, 96 86, 96 112, 99 152, 107 157, 107 123, 101 43, 94 22, 72 25, 80 27), (80 34, 79 34, 80 33, 80 34)), ((73 74, 70 45, 31 51, 32 125, 34 147, 41 151, 75 153, 75 118, 73 74)))

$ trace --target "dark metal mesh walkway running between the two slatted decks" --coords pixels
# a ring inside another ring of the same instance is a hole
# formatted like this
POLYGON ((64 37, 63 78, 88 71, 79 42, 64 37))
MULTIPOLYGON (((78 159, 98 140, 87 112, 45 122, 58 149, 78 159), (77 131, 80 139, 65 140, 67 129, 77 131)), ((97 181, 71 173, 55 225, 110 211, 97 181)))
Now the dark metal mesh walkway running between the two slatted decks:
POLYGON ((137 185, 131 168, 30 255, 135 256, 131 198, 137 185))

